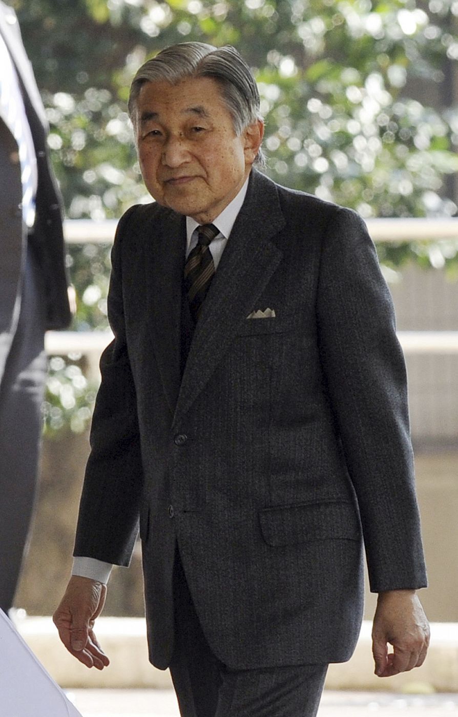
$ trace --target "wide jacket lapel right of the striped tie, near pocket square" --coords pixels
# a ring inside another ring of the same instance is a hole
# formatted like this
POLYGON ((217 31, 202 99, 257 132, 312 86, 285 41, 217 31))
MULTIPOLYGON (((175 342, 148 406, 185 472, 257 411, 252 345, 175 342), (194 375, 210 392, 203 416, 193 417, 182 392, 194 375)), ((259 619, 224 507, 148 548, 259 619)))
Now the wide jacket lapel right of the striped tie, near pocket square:
POLYGON ((284 226, 275 184, 252 171, 247 197, 211 283, 191 343, 174 422, 186 413, 228 350, 239 324, 282 259, 271 241, 284 226))

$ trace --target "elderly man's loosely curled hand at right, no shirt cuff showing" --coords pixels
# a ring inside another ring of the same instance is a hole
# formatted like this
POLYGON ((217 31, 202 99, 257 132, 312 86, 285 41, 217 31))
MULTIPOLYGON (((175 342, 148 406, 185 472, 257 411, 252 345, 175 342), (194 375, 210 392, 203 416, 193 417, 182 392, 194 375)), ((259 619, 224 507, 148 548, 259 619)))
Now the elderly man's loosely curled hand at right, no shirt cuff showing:
POLYGON ((414 590, 378 594, 373 618, 372 652, 378 677, 391 677, 424 663, 429 625, 414 590), (388 654, 388 642, 393 652, 388 654))

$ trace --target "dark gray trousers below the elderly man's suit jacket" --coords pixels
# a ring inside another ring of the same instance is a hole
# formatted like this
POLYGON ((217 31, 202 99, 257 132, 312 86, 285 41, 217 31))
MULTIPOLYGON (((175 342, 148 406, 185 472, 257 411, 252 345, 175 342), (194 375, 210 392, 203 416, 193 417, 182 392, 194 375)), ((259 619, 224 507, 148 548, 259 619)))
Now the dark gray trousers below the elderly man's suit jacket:
POLYGON ((181 717, 315 717, 328 665, 227 668, 206 642, 178 549, 173 594, 175 642, 170 671, 181 717))

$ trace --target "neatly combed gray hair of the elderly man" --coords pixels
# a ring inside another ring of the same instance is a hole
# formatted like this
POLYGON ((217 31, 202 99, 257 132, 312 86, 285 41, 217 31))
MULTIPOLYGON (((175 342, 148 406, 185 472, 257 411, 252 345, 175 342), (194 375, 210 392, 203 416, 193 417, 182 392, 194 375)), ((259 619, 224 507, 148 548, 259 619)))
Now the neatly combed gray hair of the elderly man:
MULTIPOLYGON (((221 98, 231 114, 237 136, 249 125, 262 120, 256 80, 235 47, 214 47, 205 42, 180 42, 166 47, 156 57, 147 60, 133 78, 128 102, 133 125, 135 126, 137 121, 138 95, 145 82, 170 82, 175 85, 190 77, 211 77, 216 80, 221 88, 221 98)), ((261 148, 254 163, 264 166, 261 148)))

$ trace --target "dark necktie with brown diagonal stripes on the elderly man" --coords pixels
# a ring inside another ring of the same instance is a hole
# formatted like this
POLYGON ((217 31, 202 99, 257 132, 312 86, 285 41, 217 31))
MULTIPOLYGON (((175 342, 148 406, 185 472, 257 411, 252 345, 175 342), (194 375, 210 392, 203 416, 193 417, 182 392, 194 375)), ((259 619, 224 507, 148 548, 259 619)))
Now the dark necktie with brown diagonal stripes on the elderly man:
POLYGON ((184 267, 184 285, 188 294, 189 309, 196 323, 215 272, 209 244, 219 234, 219 229, 214 224, 201 224, 197 234, 198 242, 190 252, 184 267))

